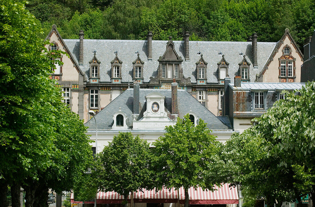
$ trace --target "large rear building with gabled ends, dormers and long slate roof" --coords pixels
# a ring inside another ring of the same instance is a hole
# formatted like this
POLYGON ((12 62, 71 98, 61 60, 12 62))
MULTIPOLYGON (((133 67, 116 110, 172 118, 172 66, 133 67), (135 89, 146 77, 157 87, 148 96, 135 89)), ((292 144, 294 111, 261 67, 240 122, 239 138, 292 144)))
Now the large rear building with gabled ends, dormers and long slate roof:
MULTIPOLYGON (((64 102, 81 119, 89 110, 99 112, 133 83, 141 88, 170 89, 173 77, 214 115, 222 114, 224 79, 240 76, 242 82, 300 82, 303 56, 286 29, 278 42, 62 39, 53 25, 49 50, 62 50, 52 79, 59 82, 64 102)), ((233 80, 232 80, 233 82, 233 80)))

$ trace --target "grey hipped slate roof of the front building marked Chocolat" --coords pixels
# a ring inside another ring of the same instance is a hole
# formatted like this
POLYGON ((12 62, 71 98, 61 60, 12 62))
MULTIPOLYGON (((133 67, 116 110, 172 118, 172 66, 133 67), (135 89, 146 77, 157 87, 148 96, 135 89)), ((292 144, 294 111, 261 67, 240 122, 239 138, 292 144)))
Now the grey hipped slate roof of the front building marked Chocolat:
MULTIPOLYGON (((170 115, 171 111, 171 90, 164 89, 140 89, 139 93, 139 102, 140 102, 140 112, 138 120, 143 117, 143 112, 146 111, 146 98, 145 96, 152 92, 159 92, 163 94, 166 98, 164 101, 165 111, 170 115)), ((190 110, 196 113, 198 118, 201 118, 205 123, 207 123, 207 127, 211 130, 232 130, 231 127, 223 123, 218 117, 212 114, 207 108, 205 108, 202 104, 198 102, 196 98, 194 98, 190 93, 185 90, 177 90, 177 98, 178 98, 178 111, 179 117, 182 118, 184 115, 189 113, 190 110), (193 106, 193 107, 191 107, 193 106)), ((95 115, 95 119, 97 121, 97 129, 98 130, 110 130, 112 129, 112 125, 114 123, 113 115, 119 111, 119 107, 121 107, 121 111, 124 112, 128 118, 126 120, 126 124, 128 128, 132 129, 132 120, 133 120, 133 89, 127 89, 122 94, 120 94, 117 98, 115 98, 111 103, 109 103, 104 109, 100 110, 97 115, 95 115)), ((229 123, 230 124, 230 123, 229 123)), ((86 127, 89 127, 89 130, 95 130, 95 121, 90 119, 88 122, 84 124, 86 127)), ((231 125, 230 125, 231 126, 231 125)))

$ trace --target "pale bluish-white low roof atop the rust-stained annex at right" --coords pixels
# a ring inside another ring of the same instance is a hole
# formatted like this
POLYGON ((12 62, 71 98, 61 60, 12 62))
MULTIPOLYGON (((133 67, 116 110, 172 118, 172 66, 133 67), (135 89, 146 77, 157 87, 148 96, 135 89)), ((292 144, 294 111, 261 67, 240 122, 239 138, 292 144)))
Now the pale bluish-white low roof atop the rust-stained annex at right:
POLYGON ((235 87, 234 84, 229 84, 232 88, 237 89, 268 89, 268 90, 295 90, 301 89, 305 83, 241 83, 241 87, 235 87))

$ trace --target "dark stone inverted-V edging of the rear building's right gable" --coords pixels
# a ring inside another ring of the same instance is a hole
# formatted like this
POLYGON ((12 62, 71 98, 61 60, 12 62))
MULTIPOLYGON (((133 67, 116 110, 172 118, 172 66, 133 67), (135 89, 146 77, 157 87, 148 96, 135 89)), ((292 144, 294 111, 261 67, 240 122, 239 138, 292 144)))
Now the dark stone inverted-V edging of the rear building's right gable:
POLYGON ((259 73, 258 78, 260 78, 261 75, 265 74, 266 70, 268 69, 269 64, 273 61, 274 56, 276 56, 276 54, 278 53, 278 51, 279 51, 279 49, 280 49, 281 45, 283 44, 284 39, 286 37, 289 38, 289 40, 291 41, 291 43, 294 46, 294 49, 297 50, 297 53, 299 54, 299 56, 301 57, 301 60, 303 61, 303 54, 302 54, 301 50, 299 49, 298 45, 296 44, 292 35, 290 34, 290 30, 288 28, 286 28, 284 31, 284 34, 282 35, 282 38, 277 42, 276 46, 272 50, 271 55, 268 58, 266 64, 264 65, 261 72, 259 73))

